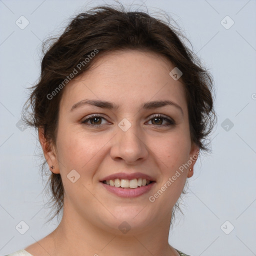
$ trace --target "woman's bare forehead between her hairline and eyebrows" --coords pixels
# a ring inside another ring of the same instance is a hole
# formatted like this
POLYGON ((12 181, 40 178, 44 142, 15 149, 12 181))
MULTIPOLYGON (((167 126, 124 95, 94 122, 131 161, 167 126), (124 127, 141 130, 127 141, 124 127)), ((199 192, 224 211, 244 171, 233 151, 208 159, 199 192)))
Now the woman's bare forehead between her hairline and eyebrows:
POLYGON ((79 100, 93 98, 131 108, 149 100, 170 99, 185 108, 184 85, 169 75, 173 68, 167 58, 153 52, 107 53, 66 85, 60 106, 70 108, 79 100))

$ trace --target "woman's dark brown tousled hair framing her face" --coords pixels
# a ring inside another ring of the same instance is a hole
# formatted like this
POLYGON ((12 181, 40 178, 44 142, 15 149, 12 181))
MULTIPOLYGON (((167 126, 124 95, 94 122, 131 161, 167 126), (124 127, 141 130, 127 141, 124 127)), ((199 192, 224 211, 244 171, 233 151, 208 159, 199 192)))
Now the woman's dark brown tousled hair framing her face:
MULTIPOLYGON (((74 69, 79 71, 74 75, 77 76, 98 57, 110 51, 146 50, 167 57, 182 71, 180 79, 186 92, 191 141, 200 149, 210 151, 206 139, 216 118, 213 110, 213 79, 181 39, 186 38, 173 25, 145 12, 126 11, 122 5, 120 8, 98 6, 76 15, 59 37, 50 38, 43 44, 45 49, 46 44, 53 40, 46 52, 43 50, 40 78, 30 88, 32 91, 25 104, 24 121, 37 131, 43 127, 46 140, 55 144, 59 101, 63 87, 68 83, 65 79, 70 79, 70 74, 75 73, 74 69), (97 54, 85 61, 96 50, 97 54), (83 65, 80 64, 78 68, 79 63, 83 65), (53 95, 54 100, 51 100, 53 95), (28 108, 31 108, 30 112, 28 108)), ((44 160, 42 169, 45 163, 44 160)), ((52 219, 63 207, 64 189, 60 174, 52 173, 48 183, 51 191, 48 203, 56 209, 52 219)))

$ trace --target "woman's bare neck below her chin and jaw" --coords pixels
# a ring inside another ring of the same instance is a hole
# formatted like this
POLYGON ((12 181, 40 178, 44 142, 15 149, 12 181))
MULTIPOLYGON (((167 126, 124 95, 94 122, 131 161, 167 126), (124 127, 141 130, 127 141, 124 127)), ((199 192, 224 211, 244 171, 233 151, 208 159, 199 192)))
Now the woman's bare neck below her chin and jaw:
POLYGON ((51 233, 54 240, 51 255, 178 255, 168 244, 169 224, 170 217, 169 221, 147 226, 140 232, 109 232, 81 218, 75 211, 67 212, 64 207, 62 219, 51 233))

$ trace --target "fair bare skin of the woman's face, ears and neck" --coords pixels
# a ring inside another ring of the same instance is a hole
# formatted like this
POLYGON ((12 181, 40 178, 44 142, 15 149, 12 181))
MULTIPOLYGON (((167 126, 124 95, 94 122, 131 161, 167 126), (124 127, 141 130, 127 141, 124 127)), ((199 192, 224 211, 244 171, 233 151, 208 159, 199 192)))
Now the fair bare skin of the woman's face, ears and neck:
POLYGON ((178 255, 168 244, 171 211, 196 160, 154 202, 148 199, 199 151, 190 138, 183 84, 169 75, 173 67, 152 52, 115 51, 98 58, 93 68, 66 85, 56 145, 51 144, 50 151, 39 130, 47 163, 62 178, 63 217, 52 233, 25 248, 28 252, 34 256, 178 255), (70 111, 83 99, 107 100, 119 107, 82 105, 70 111), (141 103, 164 99, 178 104, 183 114, 171 105, 140 108, 141 103), (100 127, 93 126, 93 119, 87 121, 90 126, 81 123, 93 113, 103 115, 100 127), (155 113, 174 119, 175 124, 154 121, 155 113), (131 123, 127 131, 117 125, 123 118, 131 123), (66 177, 72 169, 80 174, 74 183, 66 177), (156 183, 139 197, 121 198, 99 182, 116 172, 146 173, 156 183), (118 229, 123 221, 131 226, 125 234, 118 229))

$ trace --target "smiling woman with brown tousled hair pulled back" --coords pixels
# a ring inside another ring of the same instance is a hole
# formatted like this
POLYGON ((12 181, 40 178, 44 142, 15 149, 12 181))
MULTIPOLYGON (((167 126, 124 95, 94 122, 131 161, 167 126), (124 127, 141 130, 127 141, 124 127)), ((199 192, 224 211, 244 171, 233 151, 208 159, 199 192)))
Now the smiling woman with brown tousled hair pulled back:
POLYGON ((169 225, 215 113, 212 78, 179 35, 99 6, 51 44, 26 121, 62 218, 9 255, 186 255, 169 245, 169 225))

